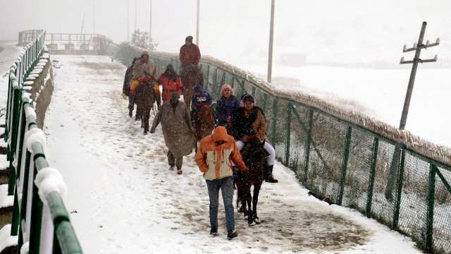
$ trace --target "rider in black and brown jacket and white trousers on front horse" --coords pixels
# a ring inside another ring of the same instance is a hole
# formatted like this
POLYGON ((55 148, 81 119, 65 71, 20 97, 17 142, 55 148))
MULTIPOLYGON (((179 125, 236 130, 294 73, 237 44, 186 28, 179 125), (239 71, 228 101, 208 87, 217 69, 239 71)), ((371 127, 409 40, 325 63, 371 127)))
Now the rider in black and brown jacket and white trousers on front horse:
POLYGON ((276 161, 276 151, 267 142, 266 138, 266 118, 259 107, 254 106, 255 99, 252 95, 245 94, 241 97, 244 107, 233 111, 231 117, 230 135, 237 140, 237 147, 242 149, 243 142, 248 135, 258 135, 261 142, 264 142, 264 148, 269 156, 266 158, 267 167, 265 170, 265 181, 268 183, 277 183, 278 180, 273 177, 273 167, 276 161))

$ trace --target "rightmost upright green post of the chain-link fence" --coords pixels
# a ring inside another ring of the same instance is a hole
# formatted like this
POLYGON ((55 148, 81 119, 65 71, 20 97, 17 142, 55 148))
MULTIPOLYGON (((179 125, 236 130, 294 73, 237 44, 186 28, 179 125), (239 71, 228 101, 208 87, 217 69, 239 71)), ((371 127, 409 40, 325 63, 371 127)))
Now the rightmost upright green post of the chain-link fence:
POLYGON ((433 223, 434 223, 434 201, 435 201, 435 172, 437 168, 434 164, 429 167, 429 195, 428 195, 428 220, 426 233, 426 252, 433 250, 433 223))

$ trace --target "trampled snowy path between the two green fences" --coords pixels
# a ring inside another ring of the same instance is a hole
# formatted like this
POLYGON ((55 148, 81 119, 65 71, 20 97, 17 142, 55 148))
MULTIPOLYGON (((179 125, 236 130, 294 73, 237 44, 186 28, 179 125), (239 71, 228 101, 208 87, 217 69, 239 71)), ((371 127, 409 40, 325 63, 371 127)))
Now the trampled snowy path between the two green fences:
POLYGON ((280 182, 261 191, 263 222, 249 227, 235 212, 239 236, 228 241, 220 206, 220 235, 211 238, 194 154, 183 175, 168 170, 161 128, 144 136, 128 117, 125 68, 102 56, 53 57, 62 66, 44 128, 47 157, 68 184, 66 205, 85 253, 420 253, 358 212, 308 197, 280 164, 280 182))

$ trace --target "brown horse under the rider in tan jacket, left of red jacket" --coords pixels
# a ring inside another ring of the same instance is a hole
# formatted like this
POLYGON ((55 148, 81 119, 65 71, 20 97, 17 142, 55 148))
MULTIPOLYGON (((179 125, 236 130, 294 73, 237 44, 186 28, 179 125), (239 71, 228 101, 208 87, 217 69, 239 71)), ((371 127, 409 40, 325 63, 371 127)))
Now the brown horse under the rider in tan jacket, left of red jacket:
POLYGON ((137 118, 141 119, 141 127, 144 128, 144 135, 149 131, 149 117, 156 95, 154 92, 154 82, 147 81, 140 83, 135 90, 135 103, 137 104, 137 118))

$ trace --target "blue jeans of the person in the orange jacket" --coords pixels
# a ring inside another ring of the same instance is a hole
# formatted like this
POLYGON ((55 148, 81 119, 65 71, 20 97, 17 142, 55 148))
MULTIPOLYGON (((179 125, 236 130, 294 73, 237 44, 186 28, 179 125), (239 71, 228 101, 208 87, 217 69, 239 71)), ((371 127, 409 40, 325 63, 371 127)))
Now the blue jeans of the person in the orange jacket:
POLYGON ((219 189, 223 193, 224 209, 226 210, 227 231, 235 229, 233 218, 233 176, 213 181, 206 180, 206 187, 210 197, 210 226, 213 231, 218 231, 218 201, 219 189))

